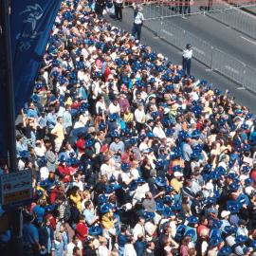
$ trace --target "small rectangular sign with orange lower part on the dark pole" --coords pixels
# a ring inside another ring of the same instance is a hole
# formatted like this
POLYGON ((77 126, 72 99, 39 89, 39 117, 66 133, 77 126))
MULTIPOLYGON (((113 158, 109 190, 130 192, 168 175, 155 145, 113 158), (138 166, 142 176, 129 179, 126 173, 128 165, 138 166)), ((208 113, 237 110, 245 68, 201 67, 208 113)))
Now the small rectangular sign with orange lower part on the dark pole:
POLYGON ((32 173, 19 171, 0 177, 1 204, 4 208, 22 206, 32 199, 32 173))

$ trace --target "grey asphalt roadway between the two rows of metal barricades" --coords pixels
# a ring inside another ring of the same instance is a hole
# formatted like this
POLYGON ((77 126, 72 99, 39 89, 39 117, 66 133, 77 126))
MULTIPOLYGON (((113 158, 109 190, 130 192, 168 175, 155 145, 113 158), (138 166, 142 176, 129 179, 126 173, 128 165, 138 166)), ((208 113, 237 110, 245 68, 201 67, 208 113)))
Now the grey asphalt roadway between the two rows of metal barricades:
MULTIPOLYGON (((238 10, 234 15, 240 15, 241 10, 238 10)), ((165 15, 163 9, 150 6, 144 7, 145 16, 154 17, 160 14, 165 15)), ((170 12, 169 12, 170 13, 170 12)), ((218 13, 211 13, 210 16, 218 19, 218 13)), ((182 17, 171 17, 163 19, 162 23, 166 26, 172 25, 180 27, 191 32, 194 36, 205 40, 211 46, 216 47, 244 64, 248 64, 256 68, 256 40, 247 37, 245 34, 221 24, 220 22, 211 19, 208 15, 198 14, 182 17)), ((256 24, 256 17, 251 18, 252 25, 256 24)), ((245 26, 248 26, 245 24, 245 26)))

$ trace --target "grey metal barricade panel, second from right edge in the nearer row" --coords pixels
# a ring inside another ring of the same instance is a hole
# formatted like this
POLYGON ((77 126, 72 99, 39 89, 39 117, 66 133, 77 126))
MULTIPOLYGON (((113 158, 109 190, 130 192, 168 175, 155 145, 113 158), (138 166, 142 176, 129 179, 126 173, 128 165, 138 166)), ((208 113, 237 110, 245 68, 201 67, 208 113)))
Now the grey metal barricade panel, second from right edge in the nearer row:
POLYGON ((229 54, 213 48, 212 50, 212 69, 229 77, 234 82, 244 84, 246 64, 231 57, 229 54))

